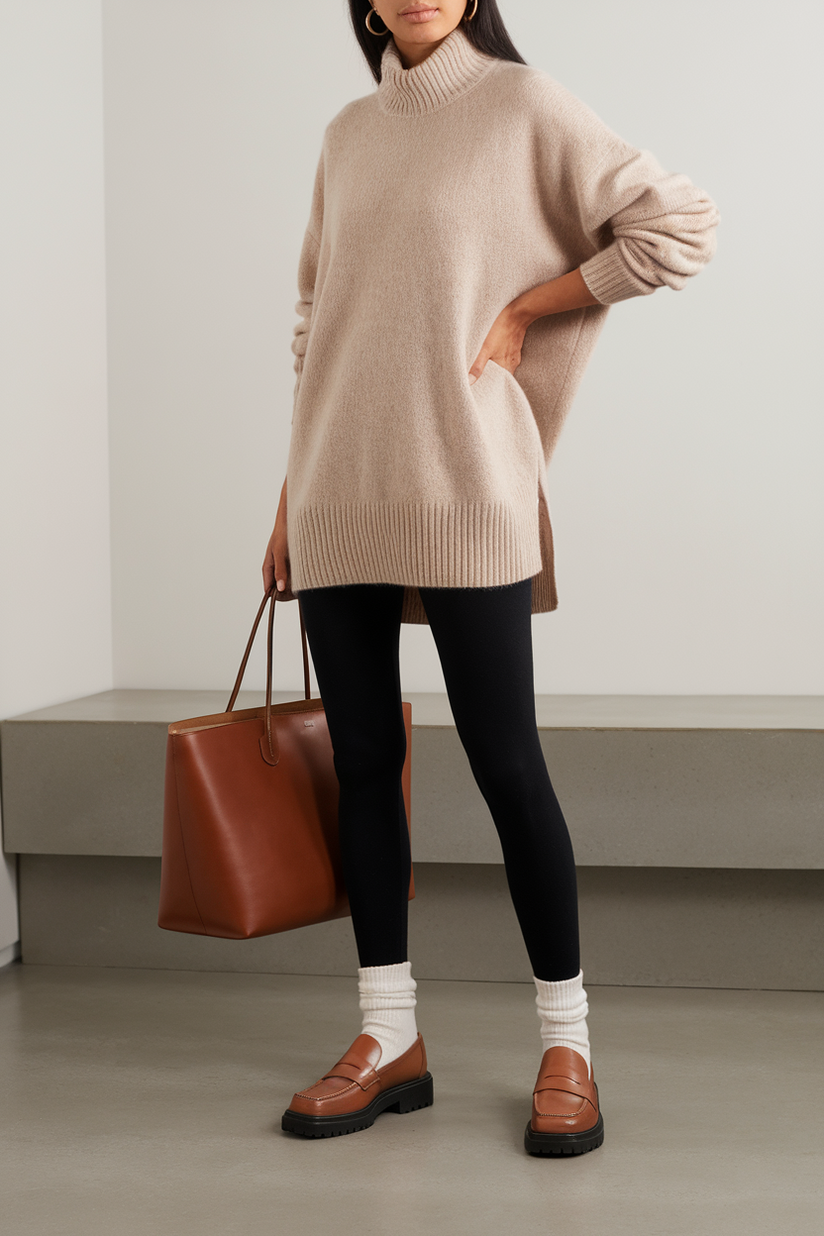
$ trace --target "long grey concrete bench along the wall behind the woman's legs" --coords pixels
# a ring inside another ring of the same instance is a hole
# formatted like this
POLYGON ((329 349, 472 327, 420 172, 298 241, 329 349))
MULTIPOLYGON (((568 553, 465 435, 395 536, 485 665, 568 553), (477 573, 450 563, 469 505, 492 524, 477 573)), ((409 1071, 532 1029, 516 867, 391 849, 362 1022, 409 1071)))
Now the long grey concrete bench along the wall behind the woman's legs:
MULTIPOLYGON (((529 976, 446 697, 406 698, 416 969, 529 976)), ((2 723, 25 960, 351 970, 348 922, 241 944, 154 927, 166 727, 225 702, 120 690, 2 723)), ((243 692, 238 707, 259 702, 243 692)), ((591 978, 824 986, 824 697, 539 696, 536 709, 576 848, 591 978)))

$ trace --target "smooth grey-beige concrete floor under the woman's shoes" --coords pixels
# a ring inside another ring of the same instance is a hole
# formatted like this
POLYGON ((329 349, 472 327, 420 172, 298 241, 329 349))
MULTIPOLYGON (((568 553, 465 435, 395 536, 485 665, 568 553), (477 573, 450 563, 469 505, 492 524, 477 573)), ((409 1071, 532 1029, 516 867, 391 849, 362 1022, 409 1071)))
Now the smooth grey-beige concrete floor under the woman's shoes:
POLYGON ((435 1106, 324 1142, 293 1091, 358 1030, 353 981, 0 974, 4 1236, 819 1236, 824 997, 591 988, 607 1140, 523 1149, 532 989, 419 984, 435 1106))

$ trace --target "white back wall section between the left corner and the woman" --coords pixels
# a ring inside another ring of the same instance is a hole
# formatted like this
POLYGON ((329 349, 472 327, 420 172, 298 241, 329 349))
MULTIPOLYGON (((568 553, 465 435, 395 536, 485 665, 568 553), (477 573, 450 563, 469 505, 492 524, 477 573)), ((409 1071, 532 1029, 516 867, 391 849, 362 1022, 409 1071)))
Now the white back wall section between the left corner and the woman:
MULTIPOLYGON (((230 687, 285 471, 324 125, 368 89, 342 5, 106 0, 115 677, 230 687)), ((278 685, 299 681, 296 606, 278 685)))

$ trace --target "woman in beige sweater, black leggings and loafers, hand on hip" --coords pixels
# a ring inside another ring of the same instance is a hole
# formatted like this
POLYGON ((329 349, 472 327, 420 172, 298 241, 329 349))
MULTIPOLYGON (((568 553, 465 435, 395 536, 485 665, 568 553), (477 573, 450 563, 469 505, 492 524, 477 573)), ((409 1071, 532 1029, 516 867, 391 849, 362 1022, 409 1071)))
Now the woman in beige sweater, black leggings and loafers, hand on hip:
POLYGON ((401 622, 429 622, 535 975, 534 1154, 603 1142, 576 870, 535 717, 545 472, 608 307, 709 261, 718 210, 513 47, 495 0, 350 0, 378 83, 329 124, 264 583, 299 595, 340 779, 362 1033, 283 1127, 431 1103, 406 955, 401 622), (288 483, 288 504, 287 504, 288 483))

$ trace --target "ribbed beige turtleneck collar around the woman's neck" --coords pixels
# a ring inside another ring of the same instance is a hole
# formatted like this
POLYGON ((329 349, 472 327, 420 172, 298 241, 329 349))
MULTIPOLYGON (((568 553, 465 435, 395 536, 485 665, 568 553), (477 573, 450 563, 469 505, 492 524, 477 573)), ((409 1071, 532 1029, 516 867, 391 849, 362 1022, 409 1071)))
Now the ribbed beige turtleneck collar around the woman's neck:
POLYGON ((473 47, 461 26, 456 26, 421 64, 405 69, 390 35, 380 61, 378 105, 395 116, 439 111, 466 94, 497 63, 495 57, 473 47))

